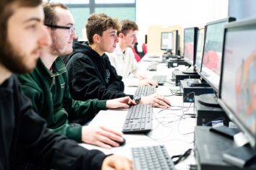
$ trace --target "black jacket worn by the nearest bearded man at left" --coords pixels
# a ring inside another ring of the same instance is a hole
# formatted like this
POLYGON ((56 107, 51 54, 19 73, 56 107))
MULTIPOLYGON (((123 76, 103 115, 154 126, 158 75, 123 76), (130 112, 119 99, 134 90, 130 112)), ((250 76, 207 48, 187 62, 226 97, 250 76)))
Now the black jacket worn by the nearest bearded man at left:
POLYGON ((0 84, 0 169, 38 164, 46 169, 101 169, 106 156, 51 133, 33 112, 15 76, 0 84), (14 166, 15 165, 15 166, 14 166))

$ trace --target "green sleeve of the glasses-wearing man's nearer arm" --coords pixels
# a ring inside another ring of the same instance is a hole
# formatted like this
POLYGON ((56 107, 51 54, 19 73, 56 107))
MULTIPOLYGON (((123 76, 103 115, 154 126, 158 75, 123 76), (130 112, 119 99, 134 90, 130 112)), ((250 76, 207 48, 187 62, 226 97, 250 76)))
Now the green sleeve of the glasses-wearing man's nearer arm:
POLYGON ((53 104, 44 104, 43 92, 36 86, 30 74, 20 75, 18 78, 22 84, 22 92, 32 102, 31 107, 33 110, 46 120, 48 129, 51 132, 66 135, 72 140, 81 142, 82 128, 69 125, 67 122, 67 111, 65 109, 58 109, 56 111, 53 104))

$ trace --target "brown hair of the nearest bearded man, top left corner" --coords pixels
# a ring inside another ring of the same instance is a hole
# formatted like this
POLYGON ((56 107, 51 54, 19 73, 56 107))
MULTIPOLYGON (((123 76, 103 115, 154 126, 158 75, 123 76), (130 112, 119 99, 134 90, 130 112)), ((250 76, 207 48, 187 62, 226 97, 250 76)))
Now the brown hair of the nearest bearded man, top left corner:
MULTIPOLYGON (((15 6, 35 7, 42 4, 42 0, 1 0, 0 1, 0 53, 7 42, 7 22, 12 16, 15 6)), ((19 29, 19 28, 17 28, 19 29)), ((0 56, 1 57, 1 56, 0 56)))

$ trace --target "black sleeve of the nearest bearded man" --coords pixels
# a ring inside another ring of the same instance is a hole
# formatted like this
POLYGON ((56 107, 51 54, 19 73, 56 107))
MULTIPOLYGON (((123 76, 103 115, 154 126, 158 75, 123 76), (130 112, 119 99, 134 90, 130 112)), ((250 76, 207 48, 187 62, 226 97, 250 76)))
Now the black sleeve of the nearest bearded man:
POLYGON ((19 124, 17 160, 20 162, 38 163, 48 169, 101 169, 106 158, 101 151, 89 151, 62 135, 49 132, 46 122, 35 114, 29 99, 23 95, 19 124))

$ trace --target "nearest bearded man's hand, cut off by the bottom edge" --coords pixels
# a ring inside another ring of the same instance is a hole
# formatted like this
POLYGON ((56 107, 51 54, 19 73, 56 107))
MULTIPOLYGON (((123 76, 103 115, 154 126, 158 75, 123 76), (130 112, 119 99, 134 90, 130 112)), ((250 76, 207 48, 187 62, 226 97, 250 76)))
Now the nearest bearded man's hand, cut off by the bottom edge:
POLYGON ((102 170, 119 170, 119 169, 127 169, 132 170, 132 161, 124 156, 107 156, 102 164, 102 170))

